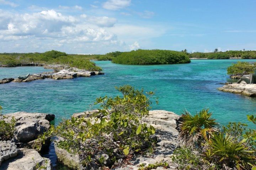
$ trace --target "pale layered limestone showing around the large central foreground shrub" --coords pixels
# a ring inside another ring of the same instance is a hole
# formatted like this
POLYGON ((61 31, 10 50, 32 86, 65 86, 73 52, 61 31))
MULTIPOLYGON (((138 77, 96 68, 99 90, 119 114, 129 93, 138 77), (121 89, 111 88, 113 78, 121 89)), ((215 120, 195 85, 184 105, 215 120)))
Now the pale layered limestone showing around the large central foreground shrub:
MULTIPOLYGON (((81 113, 75 113, 72 117, 89 117, 95 111, 86 111, 81 113)), ((130 160, 130 165, 123 165, 122 167, 116 168, 116 170, 137 170, 140 164, 147 166, 148 164, 154 164, 156 162, 165 161, 169 163, 169 170, 173 170, 176 167, 172 166, 170 155, 179 146, 177 142, 178 131, 176 130, 176 120, 180 117, 173 112, 155 110, 150 111, 149 116, 144 118, 143 121, 153 125, 156 128, 155 136, 158 138, 157 147, 151 157, 143 155, 135 155, 130 160)), ((67 151, 55 146, 55 152, 58 160, 63 164, 74 168, 78 166, 79 158, 78 155, 70 154, 67 151)), ((161 168, 159 167, 158 170, 161 168)))

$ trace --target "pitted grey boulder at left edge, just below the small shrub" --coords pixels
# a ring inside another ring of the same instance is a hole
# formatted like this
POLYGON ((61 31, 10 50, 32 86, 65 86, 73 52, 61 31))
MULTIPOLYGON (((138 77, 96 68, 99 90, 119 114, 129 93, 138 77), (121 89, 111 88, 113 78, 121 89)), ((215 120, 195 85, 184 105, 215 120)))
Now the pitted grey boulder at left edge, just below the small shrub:
POLYGON ((4 160, 16 157, 18 154, 17 146, 12 141, 0 141, 0 166, 4 160))

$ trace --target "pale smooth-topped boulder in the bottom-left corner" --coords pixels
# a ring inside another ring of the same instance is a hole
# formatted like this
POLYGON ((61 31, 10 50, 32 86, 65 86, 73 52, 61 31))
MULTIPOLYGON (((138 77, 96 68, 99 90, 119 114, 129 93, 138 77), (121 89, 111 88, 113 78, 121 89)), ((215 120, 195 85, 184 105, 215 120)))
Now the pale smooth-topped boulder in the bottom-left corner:
POLYGON ((0 166, 4 170, 35 170, 40 167, 44 170, 51 170, 50 160, 43 158, 34 149, 21 148, 20 153, 11 159, 6 160, 0 166))

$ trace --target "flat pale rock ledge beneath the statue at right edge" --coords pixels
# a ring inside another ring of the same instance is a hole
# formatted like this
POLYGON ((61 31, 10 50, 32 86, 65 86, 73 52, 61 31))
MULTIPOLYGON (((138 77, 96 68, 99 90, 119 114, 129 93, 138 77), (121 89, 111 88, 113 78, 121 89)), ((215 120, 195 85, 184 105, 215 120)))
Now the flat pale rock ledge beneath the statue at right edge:
POLYGON ((223 87, 220 87, 218 90, 231 92, 231 93, 238 93, 250 97, 256 97, 256 84, 227 84, 223 87))

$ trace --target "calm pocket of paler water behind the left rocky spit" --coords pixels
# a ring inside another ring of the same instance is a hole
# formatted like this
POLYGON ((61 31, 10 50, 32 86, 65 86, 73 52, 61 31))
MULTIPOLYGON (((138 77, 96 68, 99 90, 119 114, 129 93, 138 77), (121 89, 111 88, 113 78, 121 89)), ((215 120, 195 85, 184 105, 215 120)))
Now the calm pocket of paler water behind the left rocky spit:
MULTIPOLYGON (((43 67, 0 67, 0 79, 4 78, 17 78, 18 76, 35 74, 35 73, 43 73, 43 72, 51 72, 52 69, 44 69, 43 67)), ((0 87, 1 89, 1 87, 0 87)))

